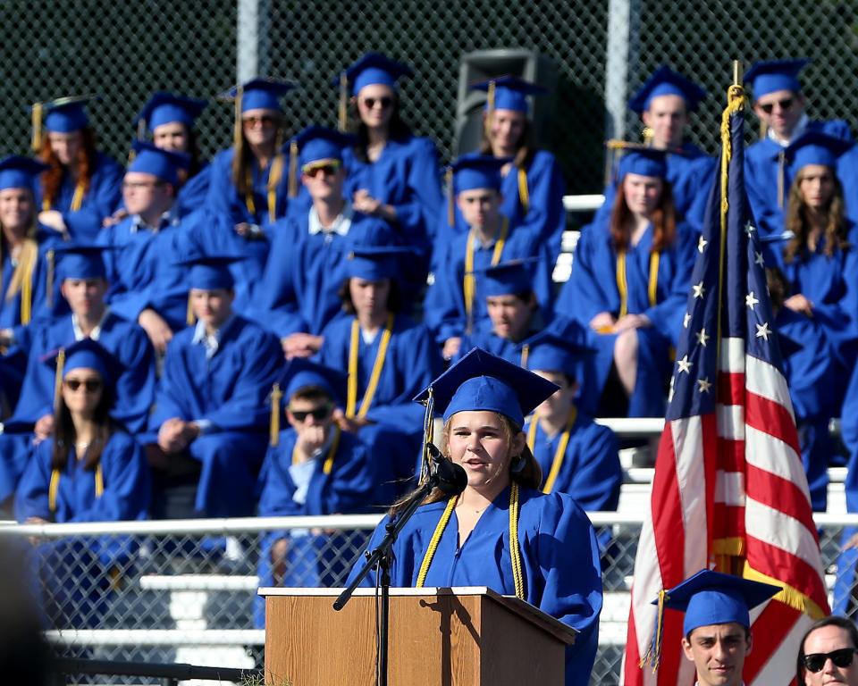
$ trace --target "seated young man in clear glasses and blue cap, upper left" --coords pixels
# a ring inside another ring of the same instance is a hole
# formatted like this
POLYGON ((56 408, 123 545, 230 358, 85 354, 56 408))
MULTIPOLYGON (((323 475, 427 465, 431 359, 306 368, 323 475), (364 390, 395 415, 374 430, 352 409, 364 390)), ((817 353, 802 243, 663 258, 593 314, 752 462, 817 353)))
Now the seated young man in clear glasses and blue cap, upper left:
POLYGON ((188 325, 187 270, 176 264, 193 250, 193 227, 202 213, 180 218, 176 206, 179 170, 188 156, 137 140, 134 161, 122 180, 129 216, 101 231, 111 310, 138 322, 163 355, 176 331, 188 325))

